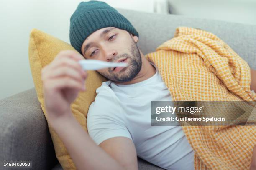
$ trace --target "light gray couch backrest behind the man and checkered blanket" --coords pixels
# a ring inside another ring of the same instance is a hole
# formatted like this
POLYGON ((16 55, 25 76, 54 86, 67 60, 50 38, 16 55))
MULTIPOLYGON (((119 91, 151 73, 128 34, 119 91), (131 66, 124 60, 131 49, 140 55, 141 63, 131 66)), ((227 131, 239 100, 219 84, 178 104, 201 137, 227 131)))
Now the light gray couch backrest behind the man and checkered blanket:
POLYGON ((217 35, 246 60, 250 67, 256 69, 256 25, 190 18, 184 15, 144 13, 124 9, 118 11, 138 31, 140 37, 137 44, 143 54, 154 52, 159 45, 170 40, 177 27, 200 28, 217 35))

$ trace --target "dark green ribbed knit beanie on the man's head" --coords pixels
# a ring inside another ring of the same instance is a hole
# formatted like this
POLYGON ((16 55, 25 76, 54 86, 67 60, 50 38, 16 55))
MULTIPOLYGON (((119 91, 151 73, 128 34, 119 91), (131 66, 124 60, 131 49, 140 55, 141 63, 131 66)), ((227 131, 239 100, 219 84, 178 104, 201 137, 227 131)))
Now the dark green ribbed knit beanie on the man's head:
POLYGON ((70 43, 82 54, 81 47, 84 40, 93 32, 105 27, 126 30, 138 37, 133 25, 115 8, 105 2, 91 0, 81 2, 70 18, 70 43))

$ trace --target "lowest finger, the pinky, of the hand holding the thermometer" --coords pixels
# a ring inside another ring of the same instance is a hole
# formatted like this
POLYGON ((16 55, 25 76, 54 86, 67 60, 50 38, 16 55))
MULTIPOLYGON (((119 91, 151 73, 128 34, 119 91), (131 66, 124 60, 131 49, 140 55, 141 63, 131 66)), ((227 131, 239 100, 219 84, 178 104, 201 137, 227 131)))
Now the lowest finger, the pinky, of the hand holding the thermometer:
POLYGON ((82 83, 76 79, 72 79, 70 77, 58 77, 55 79, 48 80, 47 88, 49 90, 62 90, 65 88, 71 88, 74 90, 84 91, 85 85, 84 85, 84 83, 82 83))

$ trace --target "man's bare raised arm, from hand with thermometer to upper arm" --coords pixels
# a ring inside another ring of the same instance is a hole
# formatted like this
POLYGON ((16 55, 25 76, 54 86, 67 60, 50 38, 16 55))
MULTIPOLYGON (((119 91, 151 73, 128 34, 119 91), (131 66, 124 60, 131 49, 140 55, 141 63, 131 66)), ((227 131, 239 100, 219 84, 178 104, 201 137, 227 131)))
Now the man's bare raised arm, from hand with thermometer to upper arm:
POLYGON ((65 50, 42 69, 47 121, 59 135, 78 170, 137 170, 137 157, 131 139, 113 138, 111 144, 105 142, 103 145, 102 142, 102 149, 84 131, 70 110, 79 92, 85 90, 87 73, 77 62, 82 59, 77 52, 65 50))

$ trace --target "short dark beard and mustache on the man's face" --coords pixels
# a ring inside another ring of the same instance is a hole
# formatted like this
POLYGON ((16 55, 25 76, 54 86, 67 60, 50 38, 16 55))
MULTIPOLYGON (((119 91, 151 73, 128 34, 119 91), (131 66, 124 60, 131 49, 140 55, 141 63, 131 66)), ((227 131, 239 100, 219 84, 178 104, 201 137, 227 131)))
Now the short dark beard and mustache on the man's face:
POLYGON ((130 60, 127 67, 116 73, 113 72, 111 68, 108 68, 108 73, 99 72, 100 75, 113 82, 129 82, 133 80, 133 78, 140 72, 142 65, 141 53, 137 44, 132 41, 130 46, 130 54, 124 53, 118 57, 115 57, 115 60, 117 61, 121 58, 127 58, 127 60, 130 60))

